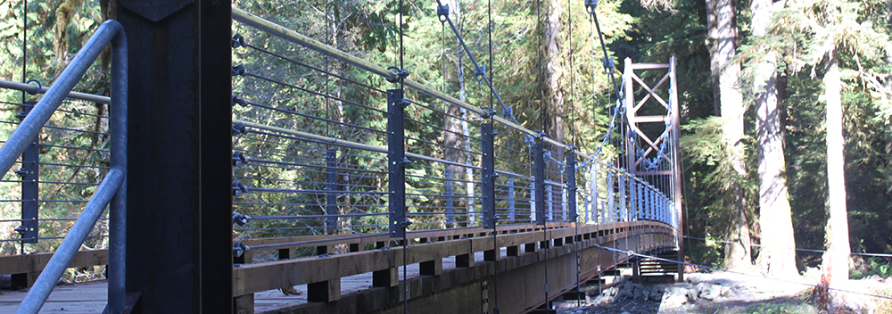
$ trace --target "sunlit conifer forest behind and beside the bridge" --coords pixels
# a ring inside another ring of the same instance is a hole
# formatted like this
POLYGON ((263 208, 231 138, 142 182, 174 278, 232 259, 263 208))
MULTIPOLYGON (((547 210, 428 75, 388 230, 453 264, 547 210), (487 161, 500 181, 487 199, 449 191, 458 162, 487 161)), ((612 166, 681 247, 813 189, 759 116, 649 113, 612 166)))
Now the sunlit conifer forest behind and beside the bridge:
MULTIPOLYGON (((450 94, 460 90, 468 103, 483 103, 488 91, 470 80, 474 69, 467 60, 457 70, 464 52, 437 21, 435 2, 404 2, 404 52, 413 78, 450 94), (459 80, 466 78, 467 86, 459 80)), ((325 38, 371 62, 395 64, 400 54, 396 4, 256 0, 233 5, 325 38)), ((471 53, 491 64, 494 87, 516 119, 593 153, 607 132, 616 95, 583 1, 449 4, 471 53)), ((99 23, 113 18, 110 7, 113 2, 106 0, 29 1, 25 13, 23 1, 0 2, 0 77, 52 82, 99 23)), ((686 255, 693 262, 774 275, 798 272, 826 258, 814 252, 794 255, 794 247, 832 248, 840 245, 832 236, 840 235, 847 236, 851 252, 892 253, 892 3, 603 0, 597 13, 617 75, 624 71, 625 58, 667 62, 674 56, 678 62, 684 227, 691 236, 686 255)), ((343 71, 349 70, 343 65, 343 71)), ((78 90, 107 95, 107 87, 105 58, 78 90)), ((0 97, 21 100, 20 93, 9 90, 0 91, 0 97)), ((107 110, 80 105, 84 111, 107 110)), ((12 107, 2 111, 4 120, 15 113, 12 107)), ((69 118, 82 126, 104 123, 77 114, 69 118)), ((4 126, 2 133, 11 129, 4 126)), ((71 141, 107 142, 101 136, 71 141)), ((56 153, 49 158, 78 163, 102 156, 56 153)), ((95 182, 103 173, 78 176, 95 182)), ((92 189, 56 193, 88 195, 92 189)), ((2 206, 0 219, 19 215, 12 206, 2 206)), ((54 228, 63 234, 67 223, 45 229, 49 236, 54 228)), ((15 226, 3 226, 3 238, 13 238, 15 226)), ((103 241, 88 245, 102 247, 103 241)), ((28 251, 47 252, 56 244, 29 244, 28 251)), ((12 254, 17 248, 4 242, 0 252, 12 254)), ((888 258, 859 259, 872 267, 853 269, 852 277, 892 273, 888 258)))

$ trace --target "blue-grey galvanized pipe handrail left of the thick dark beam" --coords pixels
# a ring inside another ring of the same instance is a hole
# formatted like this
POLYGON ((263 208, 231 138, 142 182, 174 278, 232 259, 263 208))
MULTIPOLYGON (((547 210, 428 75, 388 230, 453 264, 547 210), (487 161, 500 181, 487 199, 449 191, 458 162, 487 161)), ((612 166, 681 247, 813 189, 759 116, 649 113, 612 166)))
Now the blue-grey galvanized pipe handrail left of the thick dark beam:
POLYGON ((95 225, 99 213, 110 204, 109 213, 109 310, 111 313, 120 313, 124 310, 124 289, 126 267, 124 259, 126 250, 126 205, 127 205, 127 37, 124 29, 117 21, 105 21, 96 29, 96 32, 78 51, 62 74, 56 79, 52 87, 49 87, 43 98, 34 105, 28 116, 21 121, 19 128, 12 132, 9 140, 0 147, 0 170, 3 173, 9 171, 12 164, 19 158, 25 147, 40 129, 50 119, 59 105, 70 91, 78 83, 87 69, 95 62, 106 45, 111 44, 111 108, 109 119, 109 131, 111 133, 111 170, 103 179, 94 197, 87 203, 84 215, 75 223, 82 227, 78 232, 72 230, 65 237, 62 246, 50 260, 35 285, 21 302, 16 313, 37 313, 43 307, 46 297, 52 291, 54 284, 62 276, 84 241, 90 229, 95 225), (95 201, 95 202, 94 202, 95 201), (97 210, 98 208, 98 210, 97 210), (92 218, 95 215, 95 218, 92 218), (82 222, 85 220, 86 222, 82 222), (88 225, 87 222, 89 222, 88 225), (81 235, 82 233, 82 235, 81 235), (69 240, 69 237, 72 237, 69 240), (73 247, 73 249, 72 249, 73 247), (73 251, 72 251, 73 250, 73 251), (52 268, 51 268, 52 266, 52 268))

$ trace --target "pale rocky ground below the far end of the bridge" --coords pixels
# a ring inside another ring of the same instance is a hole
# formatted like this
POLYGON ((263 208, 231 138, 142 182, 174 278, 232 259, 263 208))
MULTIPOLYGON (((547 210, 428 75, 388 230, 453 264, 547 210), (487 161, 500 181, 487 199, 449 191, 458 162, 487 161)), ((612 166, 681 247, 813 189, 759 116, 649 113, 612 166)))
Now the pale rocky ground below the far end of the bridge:
MULTIPOLYGON (((820 273, 809 269, 798 282, 814 284, 820 273)), ((845 307, 834 313, 892 313, 892 279, 850 280, 842 293, 845 307)), ((556 302, 561 314, 687 314, 687 313, 828 313, 812 297, 814 288, 779 280, 731 273, 686 274, 684 283, 633 283, 626 280, 599 293, 597 285, 582 288, 586 300, 556 302)))

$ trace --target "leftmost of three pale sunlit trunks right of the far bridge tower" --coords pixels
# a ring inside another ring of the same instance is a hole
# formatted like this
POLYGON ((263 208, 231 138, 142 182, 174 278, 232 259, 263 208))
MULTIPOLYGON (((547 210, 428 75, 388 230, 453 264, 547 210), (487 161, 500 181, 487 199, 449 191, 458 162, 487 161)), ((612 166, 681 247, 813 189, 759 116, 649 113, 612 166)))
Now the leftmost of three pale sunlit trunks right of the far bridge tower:
POLYGON ((733 0, 717 0, 715 3, 717 40, 716 62, 719 69, 719 94, 724 118, 723 137, 731 167, 736 178, 728 186, 726 207, 731 223, 728 226, 728 241, 725 245, 725 264, 730 269, 744 269, 752 265, 749 256, 750 236, 747 224, 747 203, 739 180, 746 178, 743 143, 743 95, 739 90, 740 64, 731 63, 737 49, 737 25, 733 0))

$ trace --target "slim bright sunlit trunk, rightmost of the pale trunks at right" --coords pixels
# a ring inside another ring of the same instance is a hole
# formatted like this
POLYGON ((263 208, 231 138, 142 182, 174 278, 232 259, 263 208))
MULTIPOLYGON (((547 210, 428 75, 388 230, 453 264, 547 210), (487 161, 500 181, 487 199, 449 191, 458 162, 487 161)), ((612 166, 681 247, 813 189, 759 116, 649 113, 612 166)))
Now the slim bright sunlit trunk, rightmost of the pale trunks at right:
POLYGON ((842 100, 839 62, 833 52, 824 74, 827 101, 827 190, 830 211, 827 218, 827 252, 823 255, 821 285, 835 287, 848 280, 848 216, 846 206, 845 140, 842 132, 842 100))

